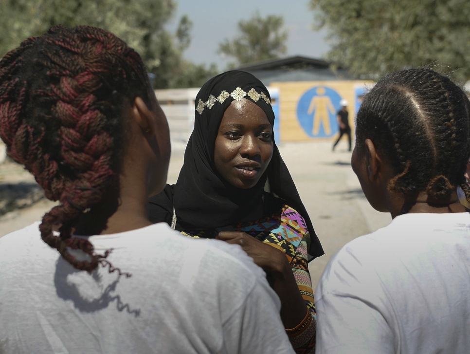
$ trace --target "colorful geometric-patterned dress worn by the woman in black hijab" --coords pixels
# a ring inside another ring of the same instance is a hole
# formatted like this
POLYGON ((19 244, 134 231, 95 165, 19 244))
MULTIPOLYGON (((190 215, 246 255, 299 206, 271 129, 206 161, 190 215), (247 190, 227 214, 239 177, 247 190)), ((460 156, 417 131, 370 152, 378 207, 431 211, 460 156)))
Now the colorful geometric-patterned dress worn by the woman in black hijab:
MULTIPOLYGON (((310 234, 304 218, 289 205, 284 205, 280 214, 254 222, 238 224, 234 228, 236 231, 246 232, 261 242, 269 243, 286 254, 300 294, 308 308, 305 319, 297 327, 288 329, 286 332, 296 353, 314 353, 316 314, 307 262, 310 234)), ((181 233, 192 238, 206 238, 208 236, 203 229, 182 231, 181 233)))

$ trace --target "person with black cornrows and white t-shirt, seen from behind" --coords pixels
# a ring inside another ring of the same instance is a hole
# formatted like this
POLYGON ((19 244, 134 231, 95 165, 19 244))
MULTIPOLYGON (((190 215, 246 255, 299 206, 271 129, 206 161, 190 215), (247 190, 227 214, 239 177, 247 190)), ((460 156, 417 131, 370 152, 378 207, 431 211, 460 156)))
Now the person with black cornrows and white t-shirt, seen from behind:
POLYGON ((393 220, 325 267, 317 354, 469 353, 469 156, 470 102, 449 78, 405 70, 365 95, 351 166, 393 220))

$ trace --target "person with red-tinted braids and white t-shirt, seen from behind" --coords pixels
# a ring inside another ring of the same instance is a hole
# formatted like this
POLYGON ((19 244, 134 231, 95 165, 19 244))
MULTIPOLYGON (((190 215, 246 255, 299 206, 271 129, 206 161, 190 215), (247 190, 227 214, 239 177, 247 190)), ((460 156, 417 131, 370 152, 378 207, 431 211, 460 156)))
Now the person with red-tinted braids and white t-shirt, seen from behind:
POLYGON ((125 42, 59 26, 3 56, 0 137, 59 202, 0 239, 0 353, 294 353, 239 245, 148 220, 169 129, 125 42))

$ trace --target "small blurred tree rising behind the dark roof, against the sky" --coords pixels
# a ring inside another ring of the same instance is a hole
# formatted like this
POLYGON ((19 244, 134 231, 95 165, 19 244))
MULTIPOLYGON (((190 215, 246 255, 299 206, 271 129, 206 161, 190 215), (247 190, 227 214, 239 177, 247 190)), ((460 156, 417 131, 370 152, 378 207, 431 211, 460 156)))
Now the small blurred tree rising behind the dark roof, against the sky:
POLYGON ((219 43, 217 52, 233 56, 236 64, 277 58, 286 53, 287 49, 285 43, 289 34, 282 29, 283 25, 282 16, 270 15, 263 19, 256 12, 251 19, 238 22, 240 35, 219 43))

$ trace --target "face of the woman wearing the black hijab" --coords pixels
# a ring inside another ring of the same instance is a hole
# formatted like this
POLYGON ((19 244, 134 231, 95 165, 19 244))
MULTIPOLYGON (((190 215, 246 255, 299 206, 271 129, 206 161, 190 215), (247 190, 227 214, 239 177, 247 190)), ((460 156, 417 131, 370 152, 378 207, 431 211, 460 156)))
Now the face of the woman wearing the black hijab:
POLYGON ((268 167, 273 150, 272 126, 252 101, 233 101, 216 137, 214 163, 222 177, 237 188, 251 188, 268 167))

